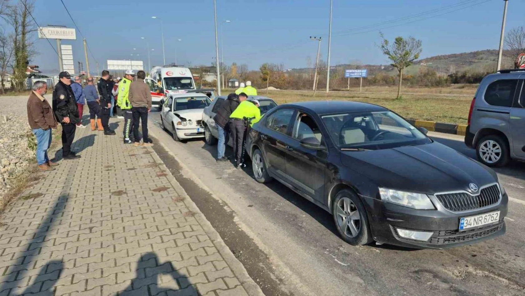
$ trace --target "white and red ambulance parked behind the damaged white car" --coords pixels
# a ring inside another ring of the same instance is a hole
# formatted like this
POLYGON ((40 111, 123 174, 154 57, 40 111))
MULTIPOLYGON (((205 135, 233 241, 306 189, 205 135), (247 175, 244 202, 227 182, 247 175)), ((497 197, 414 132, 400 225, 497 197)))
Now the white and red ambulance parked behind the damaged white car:
POLYGON ((161 108, 161 102, 171 94, 186 93, 195 90, 195 81, 190 69, 183 67, 153 67, 150 77, 146 78, 150 87, 152 105, 161 108))

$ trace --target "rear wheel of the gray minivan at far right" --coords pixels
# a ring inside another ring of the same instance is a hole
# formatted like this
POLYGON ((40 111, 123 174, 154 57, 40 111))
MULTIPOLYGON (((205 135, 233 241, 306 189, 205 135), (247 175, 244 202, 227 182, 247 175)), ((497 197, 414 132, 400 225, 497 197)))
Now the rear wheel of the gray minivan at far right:
POLYGON ((488 167, 499 168, 510 160, 507 141, 497 135, 483 137, 476 145, 478 160, 488 167))

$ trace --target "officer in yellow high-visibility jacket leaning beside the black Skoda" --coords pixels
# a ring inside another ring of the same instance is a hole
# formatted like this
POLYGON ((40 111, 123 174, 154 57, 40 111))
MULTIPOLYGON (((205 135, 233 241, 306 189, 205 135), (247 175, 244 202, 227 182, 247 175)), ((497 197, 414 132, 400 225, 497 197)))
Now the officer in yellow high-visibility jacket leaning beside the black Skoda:
POLYGON ((235 157, 235 168, 240 169, 243 163, 243 142, 246 128, 248 127, 248 120, 252 119, 257 122, 261 118, 259 108, 250 101, 246 101, 248 95, 246 93, 239 94, 240 104, 235 111, 230 115, 228 122, 230 128, 230 136, 233 142, 233 153, 235 157))

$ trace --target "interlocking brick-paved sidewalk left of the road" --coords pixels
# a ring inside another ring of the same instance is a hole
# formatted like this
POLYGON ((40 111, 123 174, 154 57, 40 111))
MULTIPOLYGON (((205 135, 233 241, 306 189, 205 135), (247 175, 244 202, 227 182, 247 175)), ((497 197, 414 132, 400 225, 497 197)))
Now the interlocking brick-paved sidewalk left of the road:
POLYGON ((111 121, 117 136, 77 129, 82 158, 0 217, 0 296, 262 294, 153 149, 111 121))

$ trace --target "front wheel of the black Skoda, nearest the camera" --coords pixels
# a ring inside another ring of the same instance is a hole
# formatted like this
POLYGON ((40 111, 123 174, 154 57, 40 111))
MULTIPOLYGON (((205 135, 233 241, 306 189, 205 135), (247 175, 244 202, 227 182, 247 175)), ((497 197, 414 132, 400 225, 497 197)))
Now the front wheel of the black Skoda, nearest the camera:
POLYGON ((346 243, 353 246, 372 243, 366 209, 354 192, 343 189, 335 195, 332 215, 335 227, 346 243), (349 220, 351 224, 348 223, 349 220))

